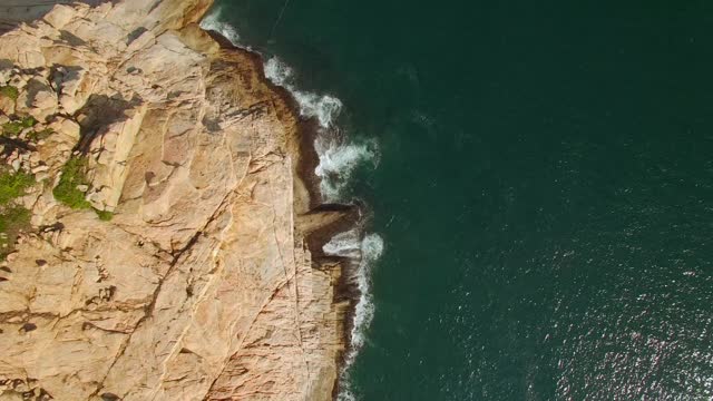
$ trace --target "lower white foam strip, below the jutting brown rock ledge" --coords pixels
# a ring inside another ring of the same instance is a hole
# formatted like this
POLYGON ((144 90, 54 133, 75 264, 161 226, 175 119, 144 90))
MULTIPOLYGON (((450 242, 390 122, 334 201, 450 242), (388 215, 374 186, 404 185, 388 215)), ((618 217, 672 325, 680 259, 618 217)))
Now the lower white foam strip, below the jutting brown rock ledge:
POLYGON ((349 369, 354 363, 356 354, 364 345, 365 331, 374 315, 374 304, 370 291, 371 270, 383 253, 383 239, 379 234, 369 233, 360 239, 359 228, 336 234, 322 250, 328 255, 360 258, 356 267, 356 287, 359 300, 354 306, 354 317, 351 331, 351 344, 344 358, 344 366, 341 372, 342 391, 339 401, 353 401, 354 395, 350 391, 349 369))

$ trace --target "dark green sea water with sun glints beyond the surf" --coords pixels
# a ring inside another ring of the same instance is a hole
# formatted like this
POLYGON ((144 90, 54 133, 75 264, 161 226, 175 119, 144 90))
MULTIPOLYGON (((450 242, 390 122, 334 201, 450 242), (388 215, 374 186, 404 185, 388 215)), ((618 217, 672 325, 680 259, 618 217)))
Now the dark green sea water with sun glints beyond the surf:
POLYGON ((217 3, 379 144, 356 399, 713 399, 713 2, 217 3))

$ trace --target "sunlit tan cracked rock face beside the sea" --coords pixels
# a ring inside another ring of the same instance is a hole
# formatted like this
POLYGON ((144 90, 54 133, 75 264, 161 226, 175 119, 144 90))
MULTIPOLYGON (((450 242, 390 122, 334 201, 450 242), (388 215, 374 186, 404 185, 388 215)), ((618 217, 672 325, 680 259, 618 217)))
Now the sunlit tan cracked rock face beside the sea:
POLYGON ((196 26, 209 6, 56 6, 0 37, 3 118, 49 133, 3 156, 38 184, 0 267, 0 399, 332 398, 341 268, 305 235, 334 216, 305 214, 299 117, 196 26), (70 157, 110 222, 52 196, 70 157))

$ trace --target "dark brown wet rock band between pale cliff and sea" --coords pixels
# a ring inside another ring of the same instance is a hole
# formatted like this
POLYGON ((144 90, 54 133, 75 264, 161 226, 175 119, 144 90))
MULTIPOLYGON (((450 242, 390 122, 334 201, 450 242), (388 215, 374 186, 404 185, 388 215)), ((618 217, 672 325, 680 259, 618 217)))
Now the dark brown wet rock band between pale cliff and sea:
MULTIPOLYGON (((201 19, 205 18, 209 10, 201 19)), ((203 28, 201 28, 203 29, 203 28)), ((338 268, 338 281, 333 284, 332 304, 346 303, 344 307, 343 321, 341 322, 341 338, 343 349, 336 356, 336 378, 332 388, 332 399, 336 400, 342 387, 342 370, 345 366, 346 355, 352 346, 352 329, 356 304, 361 295, 358 284, 354 281, 355 271, 359 268, 361 258, 354 260, 344 256, 326 255, 323 246, 336 234, 353 228, 360 228, 363 223, 362 205, 346 203, 323 203, 320 192, 320 177, 315 174, 315 168, 320 164, 320 157, 314 146, 315 139, 320 135, 320 124, 316 117, 303 117, 300 113, 300 105, 292 92, 285 87, 274 84, 265 76, 265 60, 263 56, 254 50, 241 48, 221 32, 203 29, 208 33, 222 49, 244 52, 253 62, 253 68, 260 72, 260 78, 264 85, 273 90, 287 106, 293 118, 297 121, 297 131, 291 139, 292 156, 296 159, 293 166, 294 175, 294 204, 295 232, 301 233, 307 250, 312 255, 312 268, 333 270, 338 268), (316 217, 316 222, 300 224, 300 219, 316 217)), ((363 235, 363 228, 360 229, 363 235)))

